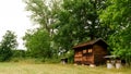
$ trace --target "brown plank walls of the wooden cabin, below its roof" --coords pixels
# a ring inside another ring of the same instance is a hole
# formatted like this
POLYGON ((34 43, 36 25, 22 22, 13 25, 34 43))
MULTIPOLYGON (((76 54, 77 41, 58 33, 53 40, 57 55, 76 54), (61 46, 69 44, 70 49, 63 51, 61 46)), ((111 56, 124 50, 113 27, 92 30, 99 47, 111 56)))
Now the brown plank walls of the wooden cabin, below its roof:
POLYGON ((80 48, 74 50, 74 63, 76 64, 102 64, 106 60, 107 49, 102 46, 94 45, 92 48, 80 48))

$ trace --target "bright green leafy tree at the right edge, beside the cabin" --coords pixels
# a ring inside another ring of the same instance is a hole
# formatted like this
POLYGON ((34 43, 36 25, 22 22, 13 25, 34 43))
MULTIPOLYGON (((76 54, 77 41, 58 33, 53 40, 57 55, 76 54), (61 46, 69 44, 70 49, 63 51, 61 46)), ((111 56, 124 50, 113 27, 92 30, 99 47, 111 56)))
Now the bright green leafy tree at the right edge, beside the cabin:
POLYGON ((109 38, 112 54, 131 62, 131 0, 109 0, 100 21, 115 30, 109 38))

